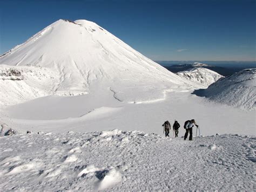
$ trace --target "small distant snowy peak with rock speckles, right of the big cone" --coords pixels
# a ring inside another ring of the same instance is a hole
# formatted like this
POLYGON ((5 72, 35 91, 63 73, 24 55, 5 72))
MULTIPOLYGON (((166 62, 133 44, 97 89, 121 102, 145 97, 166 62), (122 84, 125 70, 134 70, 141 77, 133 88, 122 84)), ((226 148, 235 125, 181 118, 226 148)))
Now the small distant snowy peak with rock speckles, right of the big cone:
POLYGON ((189 70, 178 72, 177 75, 182 78, 196 82, 203 87, 208 87, 209 85, 213 84, 215 81, 223 77, 219 73, 203 67, 190 68, 189 70))

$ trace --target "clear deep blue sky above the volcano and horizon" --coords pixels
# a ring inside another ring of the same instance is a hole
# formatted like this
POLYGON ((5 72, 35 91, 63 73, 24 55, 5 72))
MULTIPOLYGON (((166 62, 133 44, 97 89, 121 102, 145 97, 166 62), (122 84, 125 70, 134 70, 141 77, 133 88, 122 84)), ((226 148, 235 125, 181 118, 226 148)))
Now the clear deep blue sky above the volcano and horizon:
POLYGON ((254 60, 255 1, 2 1, 0 54, 63 19, 91 20, 153 60, 254 60))

